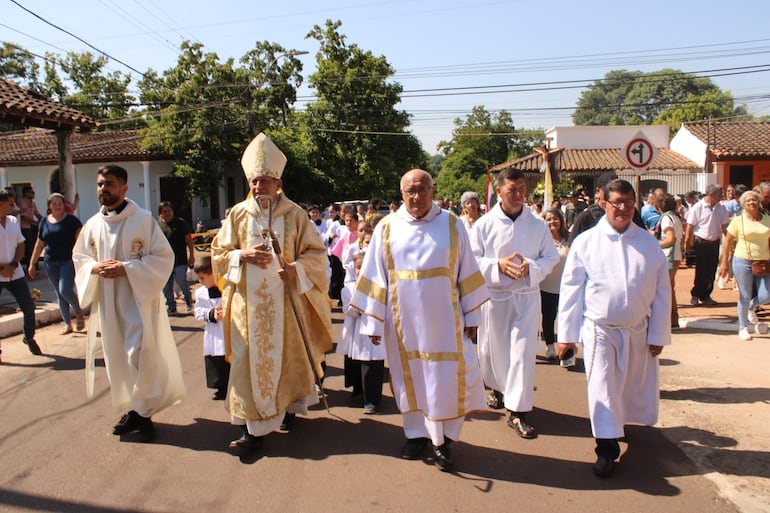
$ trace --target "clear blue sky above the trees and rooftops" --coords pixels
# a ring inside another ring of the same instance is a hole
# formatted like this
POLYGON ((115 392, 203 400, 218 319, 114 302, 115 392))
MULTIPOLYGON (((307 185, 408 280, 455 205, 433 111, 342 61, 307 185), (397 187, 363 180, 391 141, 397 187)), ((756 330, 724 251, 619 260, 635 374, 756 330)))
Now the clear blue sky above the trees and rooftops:
MULTIPOLYGON (((142 71, 174 66, 183 39, 222 59, 269 40, 309 51, 299 57, 307 77, 318 46, 305 35, 326 19, 341 20, 349 43, 384 55, 396 69, 393 79, 405 89, 401 108, 429 153, 474 105, 506 109, 520 128, 572 125, 585 85, 613 69, 726 70, 714 83, 750 112, 770 114, 770 71, 735 69, 770 69, 766 0, 16 1, 142 71), (575 82, 543 85, 557 81, 575 82), (447 90, 464 87, 481 89, 447 90)), ((35 53, 88 50, 10 0, 0 0, 0 40, 35 53)), ((130 73, 115 62, 110 67, 130 73)))

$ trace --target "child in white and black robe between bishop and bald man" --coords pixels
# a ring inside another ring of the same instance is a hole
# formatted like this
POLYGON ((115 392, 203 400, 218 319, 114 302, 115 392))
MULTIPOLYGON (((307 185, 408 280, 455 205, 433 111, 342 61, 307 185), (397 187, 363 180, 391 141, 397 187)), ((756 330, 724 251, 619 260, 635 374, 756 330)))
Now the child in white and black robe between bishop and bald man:
MULTIPOLYGON (((350 262, 348 272, 358 276, 365 249, 359 251, 350 262)), ((364 404, 364 413, 375 414, 382 401, 382 381, 385 376, 385 345, 374 345, 368 335, 362 335, 361 311, 350 307, 350 299, 356 290, 356 281, 348 281, 342 288, 342 311, 345 322, 342 336, 337 344, 337 353, 345 355, 345 386, 353 387, 352 399, 359 398, 364 404)))

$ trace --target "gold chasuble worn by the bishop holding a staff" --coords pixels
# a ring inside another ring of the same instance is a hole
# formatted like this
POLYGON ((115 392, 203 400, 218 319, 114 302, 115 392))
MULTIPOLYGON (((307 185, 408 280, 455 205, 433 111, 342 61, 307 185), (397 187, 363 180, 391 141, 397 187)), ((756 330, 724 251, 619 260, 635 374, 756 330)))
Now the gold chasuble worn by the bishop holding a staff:
POLYGON ((273 230, 286 262, 298 264, 298 279, 286 285, 278 277, 277 258, 266 269, 238 260, 239 250, 265 242, 262 233, 267 227, 267 213, 263 216, 249 197, 233 206, 211 243, 214 275, 226 283, 223 322, 231 359, 226 407, 232 417, 259 421, 274 419, 295 401, 315 397, 313 371, 287 286, 297 287, 298 313, 319 374, 318 362, 332 346, 328 260, 315 228, 301 207, 278 196, 273 230))

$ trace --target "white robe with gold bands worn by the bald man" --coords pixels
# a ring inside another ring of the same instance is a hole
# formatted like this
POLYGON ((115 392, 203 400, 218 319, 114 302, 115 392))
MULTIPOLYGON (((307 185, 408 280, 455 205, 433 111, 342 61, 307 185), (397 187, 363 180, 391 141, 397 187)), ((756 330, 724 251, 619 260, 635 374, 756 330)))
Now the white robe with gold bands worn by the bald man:
POLYGON ((350 305, 361 333, 382 337, 407 438, 459 438, 465 415, 484 410, 466 326, 488 299, 465 228, 433 205, 422 219, 402 206, 377 224, 350 305))

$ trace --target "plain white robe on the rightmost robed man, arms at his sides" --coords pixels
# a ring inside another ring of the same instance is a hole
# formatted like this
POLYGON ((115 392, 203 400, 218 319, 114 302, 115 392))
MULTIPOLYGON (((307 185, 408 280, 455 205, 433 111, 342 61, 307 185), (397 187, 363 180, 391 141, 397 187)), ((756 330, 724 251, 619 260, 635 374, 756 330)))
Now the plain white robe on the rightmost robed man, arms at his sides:
POLYGON ((671 286, 652 235, 634 223, 620 234, 602 217, 575 239, 561 279, 559 339, 583 344, 595 438, 657 422, 658 359, 648 345, 671 343, 671 286))

